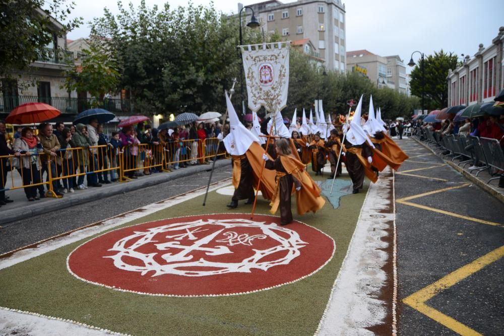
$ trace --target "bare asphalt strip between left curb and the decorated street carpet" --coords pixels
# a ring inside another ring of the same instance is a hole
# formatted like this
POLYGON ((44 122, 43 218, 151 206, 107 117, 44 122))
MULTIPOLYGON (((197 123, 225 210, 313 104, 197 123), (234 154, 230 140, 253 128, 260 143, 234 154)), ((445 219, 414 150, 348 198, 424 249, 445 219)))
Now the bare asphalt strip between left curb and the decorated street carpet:
MULTIPOLYGON (((216 169, 212 182, 229 178, 231 170, 231 165, 216 169)), ((0 229, 0 254, 206 186, 209 176, 207 171, 196 173, 138 191, 4 224, 0 229)))

